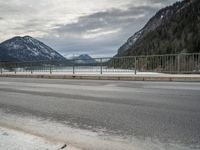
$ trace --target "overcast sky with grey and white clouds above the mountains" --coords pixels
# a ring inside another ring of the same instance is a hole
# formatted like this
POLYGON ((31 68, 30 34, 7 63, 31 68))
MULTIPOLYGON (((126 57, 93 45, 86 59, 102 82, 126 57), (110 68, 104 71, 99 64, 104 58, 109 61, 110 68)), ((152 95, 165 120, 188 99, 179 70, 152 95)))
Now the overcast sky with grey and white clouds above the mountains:
POLYGON ((33 36, 61 54, 112 56, 177 0, 1 0, 0 42, 33 36))

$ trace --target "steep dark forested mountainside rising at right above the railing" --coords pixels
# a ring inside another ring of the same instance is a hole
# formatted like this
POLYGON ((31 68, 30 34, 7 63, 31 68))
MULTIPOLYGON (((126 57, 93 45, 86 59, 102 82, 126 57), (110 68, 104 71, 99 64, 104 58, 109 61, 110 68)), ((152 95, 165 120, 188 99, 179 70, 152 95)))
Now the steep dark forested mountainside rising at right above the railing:
POLYGON ((192 31, 200 29, 199 6, 199 0, 183 0, 161 9, 119 48, 117 56, 190 52, 199 39, 192 31))

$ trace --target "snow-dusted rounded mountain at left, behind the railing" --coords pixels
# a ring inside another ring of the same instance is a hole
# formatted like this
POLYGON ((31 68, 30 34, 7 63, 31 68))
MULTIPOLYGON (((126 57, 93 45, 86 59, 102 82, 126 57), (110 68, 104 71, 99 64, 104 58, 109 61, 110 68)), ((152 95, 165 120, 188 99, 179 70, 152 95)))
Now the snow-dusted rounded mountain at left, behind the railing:
POLYGON ((14 37, 0 44, 1 61, 66 61, 58 52, 30 36, 14 37))

